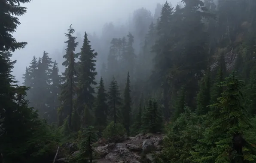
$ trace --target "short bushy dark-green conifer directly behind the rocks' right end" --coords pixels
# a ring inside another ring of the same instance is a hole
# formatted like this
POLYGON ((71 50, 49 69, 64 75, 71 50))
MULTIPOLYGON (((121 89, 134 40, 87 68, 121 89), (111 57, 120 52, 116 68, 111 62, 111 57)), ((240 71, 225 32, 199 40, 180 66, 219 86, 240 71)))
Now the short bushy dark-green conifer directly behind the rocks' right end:
POLYGON ((157 133, 162 131, 162 114, 156 100, 149 100, 148 106, 142 115, 142 130, 147 133, 157 133))

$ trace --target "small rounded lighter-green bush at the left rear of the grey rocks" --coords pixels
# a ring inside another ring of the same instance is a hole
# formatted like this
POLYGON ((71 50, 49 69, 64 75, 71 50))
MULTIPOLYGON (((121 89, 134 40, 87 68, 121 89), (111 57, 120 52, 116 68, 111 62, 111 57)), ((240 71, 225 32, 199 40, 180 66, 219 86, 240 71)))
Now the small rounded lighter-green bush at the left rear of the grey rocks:
POLYGON ((106 129, 103 131, 103 137, 105 139, 108 139, 109 141, 116 140, 116 138, 120 138, 122 136, 125 136, 126 130, 120 123, 114 123, 113 121, 110 122, 110 124, 106 127, 106 129))

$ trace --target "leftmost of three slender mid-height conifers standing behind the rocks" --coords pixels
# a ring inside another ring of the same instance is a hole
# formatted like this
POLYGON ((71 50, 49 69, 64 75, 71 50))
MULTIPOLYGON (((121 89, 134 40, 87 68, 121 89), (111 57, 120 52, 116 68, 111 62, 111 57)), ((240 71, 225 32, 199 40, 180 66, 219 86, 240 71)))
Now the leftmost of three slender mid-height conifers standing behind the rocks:
POLYGON ((104 80, 101 77, 97 97, 94 102, 94 116, 95 126, 101 133, 103 127, 107 124, 108 106, 107 106, 107 93, 104 87, 104 80))

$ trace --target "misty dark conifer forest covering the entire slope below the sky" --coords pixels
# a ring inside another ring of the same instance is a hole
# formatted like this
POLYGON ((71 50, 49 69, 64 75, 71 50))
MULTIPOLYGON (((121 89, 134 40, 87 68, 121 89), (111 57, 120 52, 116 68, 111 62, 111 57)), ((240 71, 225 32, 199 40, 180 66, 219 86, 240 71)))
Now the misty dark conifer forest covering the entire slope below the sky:
POLYGON ((29 42, 12 34, 30 1, 0 2, 0 163, 256 163, 256 0, 137 9, 98 46, 71 24, 63 60, 34 56, 19 85, 11 57, 29 42), (152 159, 144 141, 131 160, 99 156, 148 133, 163 136, 152 159))

